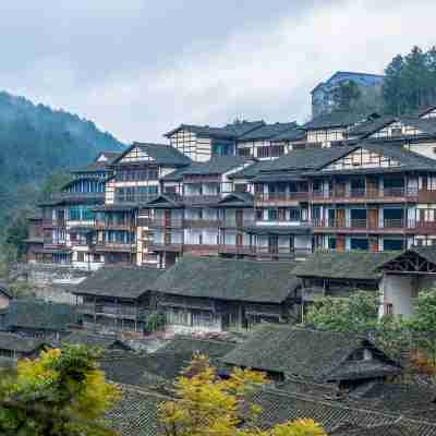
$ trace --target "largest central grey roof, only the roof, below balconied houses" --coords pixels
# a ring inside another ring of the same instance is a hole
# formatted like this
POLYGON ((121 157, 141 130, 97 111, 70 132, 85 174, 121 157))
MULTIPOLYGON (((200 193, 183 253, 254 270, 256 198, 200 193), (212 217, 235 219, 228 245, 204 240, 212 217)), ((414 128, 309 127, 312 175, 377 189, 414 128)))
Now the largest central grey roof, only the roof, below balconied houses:
POLYGON ((154 290, 193 298, 281 303, 300 286, 292 263, 183 256, 154 290))

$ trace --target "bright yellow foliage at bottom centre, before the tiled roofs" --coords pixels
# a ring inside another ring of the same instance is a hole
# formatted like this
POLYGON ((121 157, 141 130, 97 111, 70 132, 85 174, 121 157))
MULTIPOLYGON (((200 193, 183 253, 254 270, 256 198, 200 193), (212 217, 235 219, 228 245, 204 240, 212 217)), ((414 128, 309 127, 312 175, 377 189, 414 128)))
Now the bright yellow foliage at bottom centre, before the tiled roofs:
POLYGON ((194 358, 175 383, 175 400, 159 409, 167 436, 325 436, 312 420, 287 422, 261 431, 256 425, 261 408, 250 402, 250 392, 266 383, 265 375, 233 370, 219 379, 205 356, 194 358), (243 427, 242 427, 243 424, 243 427))

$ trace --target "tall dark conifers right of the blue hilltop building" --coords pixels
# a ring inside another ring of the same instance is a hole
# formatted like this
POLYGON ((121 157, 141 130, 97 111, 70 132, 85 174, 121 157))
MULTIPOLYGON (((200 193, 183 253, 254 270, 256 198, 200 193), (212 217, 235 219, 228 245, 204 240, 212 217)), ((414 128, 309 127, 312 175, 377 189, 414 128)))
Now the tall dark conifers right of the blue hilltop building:
POLYGON ((384 109, 399 116, 436 102, 436 48, 413 47, 405 57, 396 56, 385 70, 384 109))

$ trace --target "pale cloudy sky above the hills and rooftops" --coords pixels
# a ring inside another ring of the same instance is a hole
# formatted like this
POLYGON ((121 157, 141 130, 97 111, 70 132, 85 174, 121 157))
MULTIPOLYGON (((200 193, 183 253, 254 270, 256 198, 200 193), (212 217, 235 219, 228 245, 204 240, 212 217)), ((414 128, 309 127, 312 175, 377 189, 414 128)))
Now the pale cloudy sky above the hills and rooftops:
POLYGON ((131 143, 181 123, 304 122, 335 71, 436 45, 435 0, 3 0, 0 88, 131 143))

